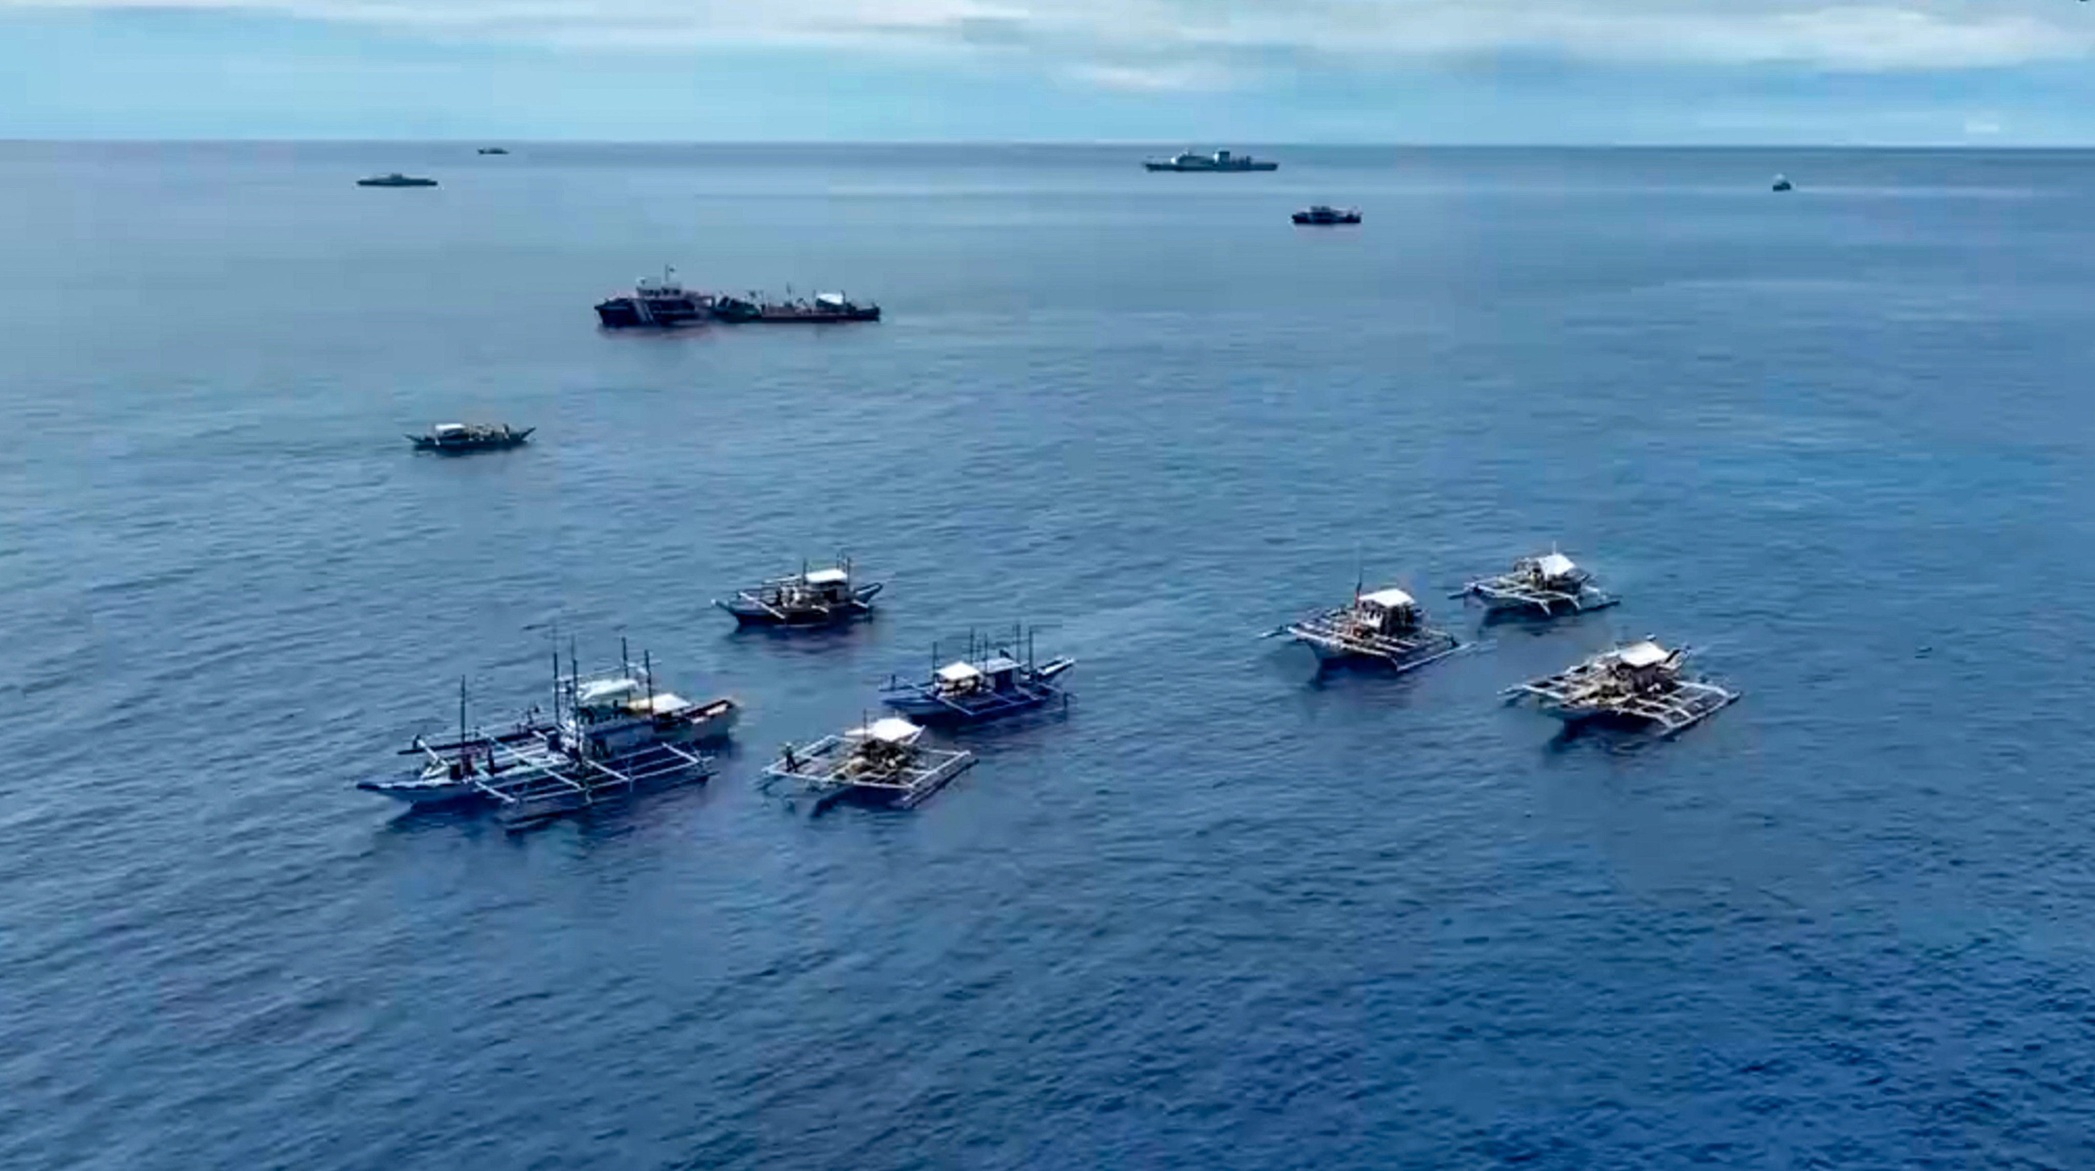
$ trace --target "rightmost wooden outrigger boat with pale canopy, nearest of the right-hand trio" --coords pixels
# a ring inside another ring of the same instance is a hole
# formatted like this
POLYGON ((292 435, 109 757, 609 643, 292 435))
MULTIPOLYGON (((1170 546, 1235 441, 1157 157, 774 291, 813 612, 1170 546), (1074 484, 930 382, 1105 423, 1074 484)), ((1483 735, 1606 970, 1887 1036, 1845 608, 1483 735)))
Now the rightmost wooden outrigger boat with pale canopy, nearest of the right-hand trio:
POLYGON ((1689 679, 1689 649, 1653 639, 1601 651, 1578 666, 1508 687, 1508 702, 1536 700, 1567 725, 1619 723, 1678 735, 1739 700, 1707 679, 1689 679))

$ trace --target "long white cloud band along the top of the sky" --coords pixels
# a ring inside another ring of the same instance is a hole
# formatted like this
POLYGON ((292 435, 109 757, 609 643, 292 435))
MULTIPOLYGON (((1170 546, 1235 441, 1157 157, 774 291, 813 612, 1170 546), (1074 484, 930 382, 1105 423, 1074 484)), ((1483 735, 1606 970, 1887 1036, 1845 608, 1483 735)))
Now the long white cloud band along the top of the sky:
POLYGON ((1091 84, 1207 88, 1247 61, 1364 65, 1492 52, 1833 71, 2095 57, 2070 0, 0 0, 241 8, 444 36, 679 48, 884 44, 1029 52, 1091 84))

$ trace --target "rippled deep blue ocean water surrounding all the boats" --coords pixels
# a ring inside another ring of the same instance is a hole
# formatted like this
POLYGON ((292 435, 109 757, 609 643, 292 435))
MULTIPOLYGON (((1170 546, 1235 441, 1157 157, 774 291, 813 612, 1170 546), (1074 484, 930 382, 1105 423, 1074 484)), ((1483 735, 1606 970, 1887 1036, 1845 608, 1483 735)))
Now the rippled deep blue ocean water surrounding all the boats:
POLYGON ((0 1165, 2095 1163, 2095 155, 1142 153, 0 147, 0 1165), (664 262, 888 321, 599 333, 664 262), (1257 637, 1550 543, 1626 605, 1257 637), (708 605, 838 549, 869 624, 708 605), (1014 620, 1064 719, 758 792, 1014 620), (350 788, 555 628, 742 748, 350 788), (1745 700, 1500 706, 1645 633, 1745 700))

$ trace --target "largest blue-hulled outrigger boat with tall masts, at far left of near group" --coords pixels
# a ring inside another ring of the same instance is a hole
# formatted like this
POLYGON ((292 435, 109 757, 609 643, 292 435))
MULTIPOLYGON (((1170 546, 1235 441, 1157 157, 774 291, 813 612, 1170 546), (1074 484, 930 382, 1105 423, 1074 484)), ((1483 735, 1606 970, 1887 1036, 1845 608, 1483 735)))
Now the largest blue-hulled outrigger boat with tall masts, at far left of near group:
POLYGON ((654 664, 620 656, 616 670, 580 675, 553 660, 553 719, 536 708, 501 733, 467 731, 465 683, 459 683, 459 735, 429 744, 415 737, 404 756, 421 756, 406 777, 358 781, 409 804, 492 804, 509 827, 587 809, 612 796, 662 783, 702 781, 714 773, 698 744, 727 737, 740 706, 719 698, 689 702, 654 685, 654 664))

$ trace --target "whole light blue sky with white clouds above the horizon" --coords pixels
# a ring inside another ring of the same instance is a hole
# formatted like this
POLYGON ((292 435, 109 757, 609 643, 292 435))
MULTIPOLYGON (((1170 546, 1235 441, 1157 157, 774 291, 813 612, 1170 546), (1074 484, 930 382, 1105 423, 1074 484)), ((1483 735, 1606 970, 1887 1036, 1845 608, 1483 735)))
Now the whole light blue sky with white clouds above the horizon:
POLYGON ((0 138, 2095 145, 2095 4, 0 0, 0 138))

